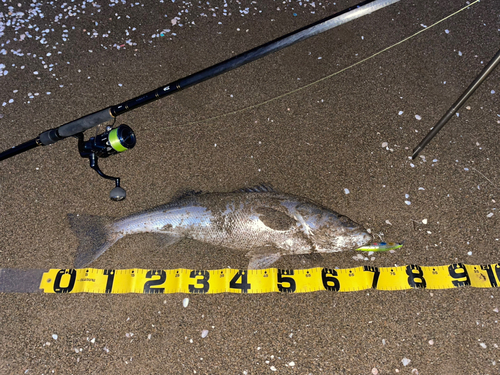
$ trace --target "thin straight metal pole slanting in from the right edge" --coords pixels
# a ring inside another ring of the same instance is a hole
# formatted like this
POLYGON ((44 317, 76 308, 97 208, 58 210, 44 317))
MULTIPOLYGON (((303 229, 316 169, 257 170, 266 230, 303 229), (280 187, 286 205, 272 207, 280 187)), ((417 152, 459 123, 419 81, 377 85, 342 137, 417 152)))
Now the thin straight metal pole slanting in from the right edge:
POLYGON ((496 53, 491 61, 486 65, 483 71, 476 77, 476 79, 470 84, 470 86, 465 90, 465 92, 458 98, 458 100, 451 106, 448 112, 439 120, 439 122, 432 128, 432 130, 425 136, 425 138, 418 144, 413 150, 412 159, 415 159, 420 151, 424 149, 425 146, 436 136, 436 134, 441 130, 441 128, 450 120, 450 118, 457 113, 460 107, 469 99, 469 97, 476 91, 476 89, 483 83, 483 81, 490 75, 490 73, 497 67, 500 63, 500 50, 496 53))

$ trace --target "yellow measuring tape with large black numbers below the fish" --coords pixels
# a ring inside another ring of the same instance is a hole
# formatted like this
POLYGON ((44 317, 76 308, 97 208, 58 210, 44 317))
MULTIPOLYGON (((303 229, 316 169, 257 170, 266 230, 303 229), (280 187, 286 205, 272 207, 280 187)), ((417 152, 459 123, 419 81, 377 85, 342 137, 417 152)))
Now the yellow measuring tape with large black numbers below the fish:
POLYGON ((500 263, 421 267, 356 267, 303 270, 102 270, 51 269, 43 273, 44 293, 307 293, 365 289, 450 289, 500 285, 500 263))

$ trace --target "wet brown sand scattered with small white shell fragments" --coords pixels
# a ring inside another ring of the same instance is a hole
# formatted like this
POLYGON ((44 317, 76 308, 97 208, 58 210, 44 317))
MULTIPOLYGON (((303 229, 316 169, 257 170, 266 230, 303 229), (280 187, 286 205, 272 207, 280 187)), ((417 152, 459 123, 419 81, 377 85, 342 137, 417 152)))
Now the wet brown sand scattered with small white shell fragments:
MULTIPOLYGON (((186 4, 2 3, 0 149, 354 2, 186 4)), ((408 158, 497 52, 495 1, 474 4, 368 61, 260 105, 464 5, 401 1, 118 117, 117 124, 135 130, 137 145, 100 164, 122 178, 123 202, 109 200, 112 182, 80 158, 76 139, 1 162, 0 268, 71 268, 78 244, 68 213, 120 217, 182 191, 233 191, 263 182, 345 214, 386 241, 405 241, 373 260, 354 259, 353 251, 283 258, 278 268, 498 263, 500 70, 422 157, 408 158), (210 120, 215 116, 221 117, 210 120)), ((92 266, 244 269, 247 263, 237 250, 194 241, 163 248, 154 236, 137 235, 120 240, 92 266)), ((500 371, 496 289, 1 294, 0 301, 2 374, 500 371)))

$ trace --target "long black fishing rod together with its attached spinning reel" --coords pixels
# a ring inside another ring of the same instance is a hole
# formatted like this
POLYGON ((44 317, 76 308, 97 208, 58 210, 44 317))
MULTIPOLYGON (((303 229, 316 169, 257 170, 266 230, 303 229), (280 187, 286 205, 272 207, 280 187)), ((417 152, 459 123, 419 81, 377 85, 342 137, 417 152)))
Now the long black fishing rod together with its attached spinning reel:
POLYGON ((155 90, 139 95, 123 103, 110 106, 101 109, 100 111, 80 117, 79 119, 68 122, 57 128, 47 130, 34 139, 31 139, 25 143, 22 143, 0 153, 0 161, 31 150, 38 146, 47 146, 56 143, 64 138, 77 137, 80 155, 82 157, 89 158, 90 167, 94 169, 101 177, 115 181, 115 188, 111 190, 110 198, 115 201, 123 200, 125 199, 126 194, 125 190, 120 187, 120 178, 111 177, 104 174, 100 170, 97 160, 99 157, 108 157, 133 148, 136 143, 134 132, 127 125, 120 125, 114 129, 112 127, 108 127, 105 133, 96 137, 92 137, 88 141, 85 141, 83 136, 83 132, 85 130, 102 124, 106 121, 113 120, 119 115, 137 109, 158 99, 162 99, 177 91, 206 81, 222 73, 238 68, 244 64, 248 64, 273 52, 291 46, 292 44, 298 43, 307 38, 323 33, 327 30, 333 29, 334 27, 340 26, 349 21, 385 8, 386 6, 394 4, 398 1, 400 0, 363 1, 356 6, 347 8, 330 17, 315 22, 312 25, 303 27, 271 42, 246 51, 238 56, 232 57, 228 60, 203 69, 197 73, 191 74, 190 76, 169 83, 168 85, 161 86, 155 90))

